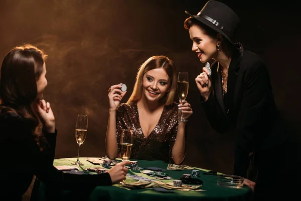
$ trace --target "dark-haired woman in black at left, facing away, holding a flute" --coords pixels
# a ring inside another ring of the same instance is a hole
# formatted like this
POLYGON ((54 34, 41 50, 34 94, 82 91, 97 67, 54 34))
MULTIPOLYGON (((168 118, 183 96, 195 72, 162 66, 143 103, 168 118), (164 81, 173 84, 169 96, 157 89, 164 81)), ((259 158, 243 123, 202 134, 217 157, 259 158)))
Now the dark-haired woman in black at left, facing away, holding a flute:
MULTIPOLYGON (((51 188, 50 197, 57 195, 55 191, 60 189, 81 186, 82 192, 82 188, 111 185, 125 179, 127 161, 98 175, 63 173, 53 166, 57 137, 55 117, 50 104, 41 99, 47 86, 46 57, 37 47, 23 45, 8 52, 1 66, 0 180, 3 186, 0 200, 22 200, 34 175, 51 188)), ((58 200, 50 197, 50 200, 58 200)))

